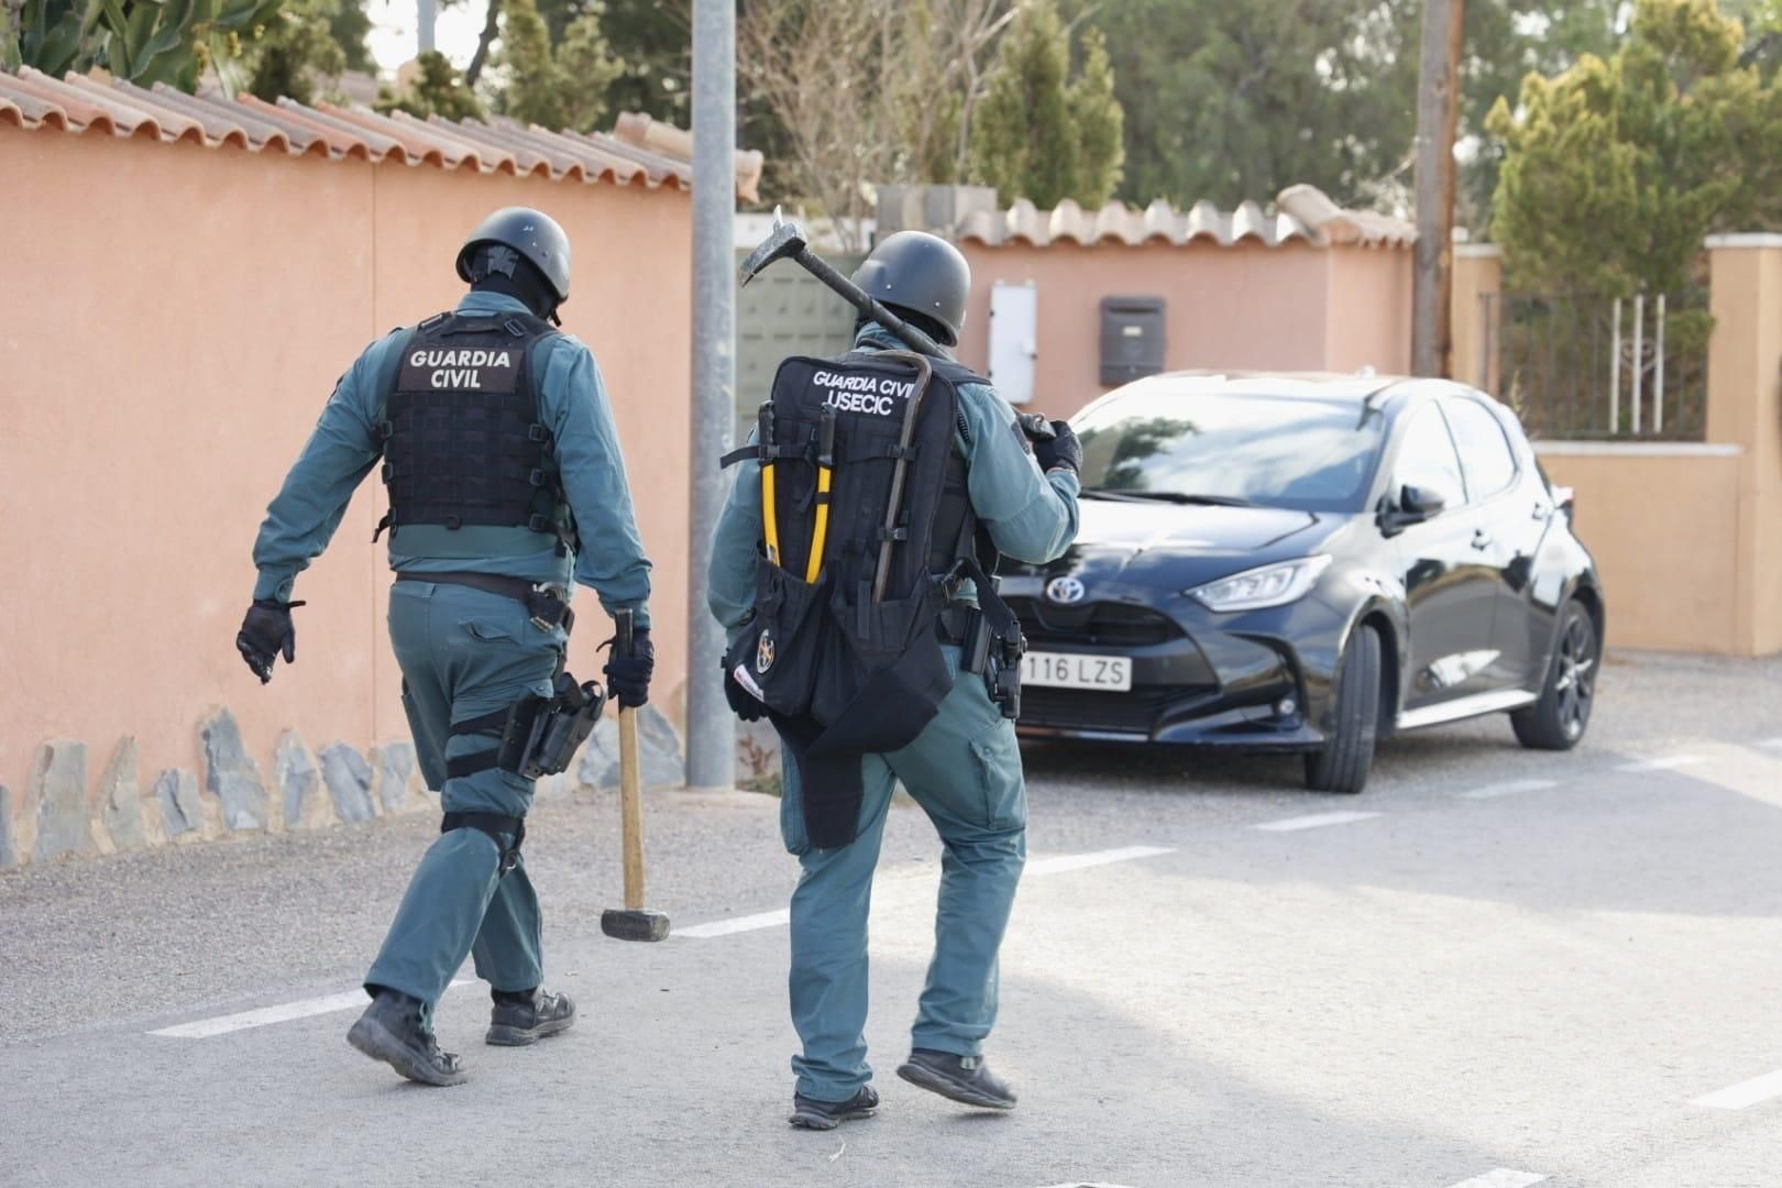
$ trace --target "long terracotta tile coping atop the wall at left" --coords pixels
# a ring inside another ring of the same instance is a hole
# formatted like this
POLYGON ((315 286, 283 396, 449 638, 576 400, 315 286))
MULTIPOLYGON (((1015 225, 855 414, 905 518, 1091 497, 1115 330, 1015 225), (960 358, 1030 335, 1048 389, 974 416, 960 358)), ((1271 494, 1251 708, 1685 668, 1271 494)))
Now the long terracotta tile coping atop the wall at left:
MULTIPOLYGON (((253 96, 185 94, 164 84, 151 89, 107 78, 52 78, 30 68, 0 73, 0 123, 59 132, 96 130, 185 141, 251 153, 319 155, 330 160, 403 160, 437 169, 476 169, 547 176, 558 182, 609 182, 690 189, 691 137, 647 116, 620 116, 620 135, 551 132, 511 119, 488 123, 403 112, 380 116, 364 107, 294 100, 266 103, 253 96)), ((736 187, 754 198, 761 153, 736 155, 736 187)))

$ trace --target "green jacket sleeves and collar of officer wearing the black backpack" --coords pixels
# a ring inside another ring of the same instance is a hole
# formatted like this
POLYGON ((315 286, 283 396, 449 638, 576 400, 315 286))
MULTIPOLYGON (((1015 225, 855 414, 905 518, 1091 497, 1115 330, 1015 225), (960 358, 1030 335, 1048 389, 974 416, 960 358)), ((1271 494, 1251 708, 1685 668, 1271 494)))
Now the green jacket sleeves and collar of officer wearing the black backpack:
MULTIPOLYGON (((889 331, 870 326, 859 351, 907 351, 889 331)), ((1041 474, 1028 452, 1014 410, 996 388, 959 385, 966 433, 953 429, 953 449, 966 460, 971 508, 996 549, 1018 561, 1051 561, 1076 540, 1076 474, 1041 474)), ((761 465, 738 465, 736 484, 711 540, 711 613, 732 638, 756 606, 756 557, 761 541, 761 465)))

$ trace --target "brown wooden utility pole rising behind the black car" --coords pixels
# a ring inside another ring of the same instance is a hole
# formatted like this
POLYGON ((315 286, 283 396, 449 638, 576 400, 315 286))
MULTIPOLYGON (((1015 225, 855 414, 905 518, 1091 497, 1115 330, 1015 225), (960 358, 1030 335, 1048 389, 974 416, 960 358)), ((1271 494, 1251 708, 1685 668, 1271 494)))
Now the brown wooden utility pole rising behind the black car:
POLYGON ((1424 0, 1417 80, 1417 251, 1411 273, 1411 374, 1447 376, 1454 276, 1454 135, 1467 0, 1424 0))

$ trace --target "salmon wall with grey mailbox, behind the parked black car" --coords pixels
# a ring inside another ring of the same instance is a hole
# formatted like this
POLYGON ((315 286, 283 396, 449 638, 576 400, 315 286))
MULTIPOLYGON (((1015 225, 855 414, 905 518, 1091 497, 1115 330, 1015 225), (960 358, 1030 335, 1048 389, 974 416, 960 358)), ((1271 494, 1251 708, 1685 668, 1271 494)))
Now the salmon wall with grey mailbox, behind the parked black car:
POLYGON ((1067 417, 1108 388, 1099 383, 1101 297, 1167 301, 1164 365, 1258 370, 1353 370, 1410 362, 1410 251, 1281 248, 1199 240, 1046 248, 960 246, 971 264, 971 306, 960 360, 989 362, 994 281, 1039 287, 1034 404, 1067 417), (1345 289, 1349 287, 1349 289, 1345 289), (1353 362, 1351 362, 1353 360, 1353 362))

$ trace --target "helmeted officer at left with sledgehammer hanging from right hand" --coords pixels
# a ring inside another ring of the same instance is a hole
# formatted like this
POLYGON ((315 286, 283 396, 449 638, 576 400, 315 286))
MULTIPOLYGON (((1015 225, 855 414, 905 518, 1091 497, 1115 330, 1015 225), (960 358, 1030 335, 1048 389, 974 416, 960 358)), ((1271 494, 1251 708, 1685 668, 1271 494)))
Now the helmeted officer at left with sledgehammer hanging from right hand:
POLYGON ((608 613, 634 614, 638 645, 606 668, 620 704, 647 700, 652 668, 650 563, 611 408, 593 354, 552 328, 570 292, 568 237, 538 210, 497 210, 460 249, 458 276, 470 290, 454 310, 385 335, 340 378, 267 508, 235 639, 262 682, 278 655, 296 659, 292 584, 381 463, 390 643, 446 818, 347 1040, 426 1085, 463 1079, 433 1035, 433 1006, 465 956, 494 992, 490 1044, 533 1044, 576 1017, 542 989, 538 896, 520 855, 535 773, 558 768, 510 741, 535 714, 574 704, 592 727, 599 712, 595 686, 563 673, 576 582, 608 613))

